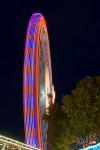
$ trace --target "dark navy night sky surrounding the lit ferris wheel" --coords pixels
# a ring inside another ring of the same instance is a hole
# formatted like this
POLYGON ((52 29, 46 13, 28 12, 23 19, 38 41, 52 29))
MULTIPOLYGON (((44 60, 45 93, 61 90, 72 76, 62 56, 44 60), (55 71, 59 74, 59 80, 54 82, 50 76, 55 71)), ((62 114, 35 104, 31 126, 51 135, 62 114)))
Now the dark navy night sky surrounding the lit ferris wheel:
POLYGON ((0 133, 24 141, 22 73, 27 24, 48 26, 57 100, 83 77, 100 75, 100 5, 93 0, 0 2, 0 133))

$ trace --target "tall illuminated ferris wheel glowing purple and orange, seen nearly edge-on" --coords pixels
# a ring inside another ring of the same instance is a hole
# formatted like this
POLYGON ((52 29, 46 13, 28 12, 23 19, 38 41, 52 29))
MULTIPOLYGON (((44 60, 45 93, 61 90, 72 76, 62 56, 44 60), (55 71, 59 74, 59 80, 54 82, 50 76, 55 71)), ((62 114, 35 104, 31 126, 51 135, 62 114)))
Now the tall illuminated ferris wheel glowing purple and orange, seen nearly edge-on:
POLYGON ((48 124, 42 120, 46 108, 54 102, 50 47, 42 14, 31 16, 25 43, 23 104, 26 143, 47 149, 48 124), (50 98, 52 97, 52 98, 50 98))

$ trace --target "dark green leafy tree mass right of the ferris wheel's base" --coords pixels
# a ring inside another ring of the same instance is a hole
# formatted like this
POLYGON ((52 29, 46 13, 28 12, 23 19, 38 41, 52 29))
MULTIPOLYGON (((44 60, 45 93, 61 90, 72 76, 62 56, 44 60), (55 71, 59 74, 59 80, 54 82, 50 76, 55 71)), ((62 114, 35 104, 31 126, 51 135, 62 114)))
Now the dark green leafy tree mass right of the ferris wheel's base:
POLYGON ((64 95, 62 105, 50 106, 45 119, 48 142, 53 150, 72 148, 81 136, 100 131, 100 77, 85 77, 70 94, 64 95))

